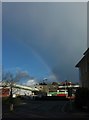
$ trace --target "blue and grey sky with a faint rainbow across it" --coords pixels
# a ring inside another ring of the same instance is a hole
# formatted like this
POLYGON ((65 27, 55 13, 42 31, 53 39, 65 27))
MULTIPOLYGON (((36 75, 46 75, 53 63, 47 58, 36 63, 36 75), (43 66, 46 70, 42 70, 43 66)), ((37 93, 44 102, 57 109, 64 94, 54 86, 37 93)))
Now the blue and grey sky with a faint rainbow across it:
POLYGON ((28 72, 27 84, 79 81, 75 65, 87 49, 87 3, 3 3, 2 26, 4 70, 28 72))

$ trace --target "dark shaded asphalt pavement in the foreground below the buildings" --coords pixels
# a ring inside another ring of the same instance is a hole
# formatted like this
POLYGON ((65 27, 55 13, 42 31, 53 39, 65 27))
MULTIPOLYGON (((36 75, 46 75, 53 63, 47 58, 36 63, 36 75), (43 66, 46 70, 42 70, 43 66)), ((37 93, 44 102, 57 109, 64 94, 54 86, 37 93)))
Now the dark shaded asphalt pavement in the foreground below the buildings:
POLYGON ((60 119, 87 119, 89 114, 76 110, 69 101, 22 101, 18 106, 14 106, 13 112, 5 112, 3 109, 3 120, 11 118, 60 118, 60 119))

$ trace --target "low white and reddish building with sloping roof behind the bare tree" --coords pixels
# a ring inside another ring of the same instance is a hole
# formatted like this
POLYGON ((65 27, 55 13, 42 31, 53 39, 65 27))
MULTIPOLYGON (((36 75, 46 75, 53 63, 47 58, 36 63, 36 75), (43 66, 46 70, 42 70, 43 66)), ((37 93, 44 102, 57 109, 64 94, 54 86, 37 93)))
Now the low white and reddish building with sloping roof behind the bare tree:
MULTIPOLYGON (((9 86, 2 86, 0 85, 0 97, 8 97, 10 96, 10 87, 9 86)), ((13 97, 19 96, 19 95, 26 95, 31 96, 34 92, 38 92, 39 90, 37 88, 33 88, 30 86, 24 86, 24 85, 18 85, 14 84, 12 88, 12 94, 13 97)))

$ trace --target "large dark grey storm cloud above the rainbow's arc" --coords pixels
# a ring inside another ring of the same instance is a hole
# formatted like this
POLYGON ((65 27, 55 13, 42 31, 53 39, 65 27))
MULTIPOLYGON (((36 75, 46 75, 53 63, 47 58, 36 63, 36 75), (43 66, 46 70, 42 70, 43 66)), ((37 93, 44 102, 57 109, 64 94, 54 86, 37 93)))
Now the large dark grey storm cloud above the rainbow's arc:
POLYGON ((75 64, 87 47, 87 3, 3 3, 3 25, 59 80, 78 80, 75 64))

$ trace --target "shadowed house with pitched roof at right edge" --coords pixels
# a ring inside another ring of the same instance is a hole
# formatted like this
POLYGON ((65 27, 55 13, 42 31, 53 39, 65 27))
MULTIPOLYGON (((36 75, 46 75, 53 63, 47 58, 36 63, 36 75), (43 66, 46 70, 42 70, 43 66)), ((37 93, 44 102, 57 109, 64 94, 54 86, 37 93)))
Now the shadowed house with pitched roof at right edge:
POLYGON ((89 48, 75 67, 79 68, 81 86, 89 89, 89 48))

